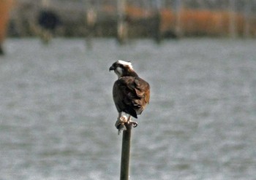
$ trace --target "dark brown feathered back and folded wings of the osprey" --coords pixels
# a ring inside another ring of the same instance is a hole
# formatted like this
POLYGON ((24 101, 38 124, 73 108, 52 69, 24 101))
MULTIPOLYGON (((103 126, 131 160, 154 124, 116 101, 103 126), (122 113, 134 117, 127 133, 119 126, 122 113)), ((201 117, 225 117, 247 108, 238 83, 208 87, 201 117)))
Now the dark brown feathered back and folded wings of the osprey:
POLYGON ((121 77, 113 85, 113 100, 118 112, 137 118, 149 102, 150 87, 140 77, 121 77))

